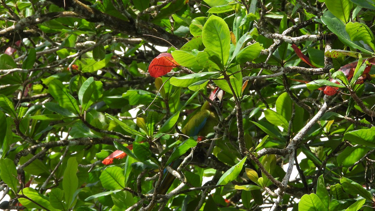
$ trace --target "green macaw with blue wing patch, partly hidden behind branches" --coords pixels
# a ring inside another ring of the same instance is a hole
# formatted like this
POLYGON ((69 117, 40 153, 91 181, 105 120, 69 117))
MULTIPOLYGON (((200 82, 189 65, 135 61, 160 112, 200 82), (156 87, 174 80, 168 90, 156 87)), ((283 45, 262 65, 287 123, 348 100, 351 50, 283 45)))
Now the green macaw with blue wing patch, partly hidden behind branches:
MULTIPOLYGON (((209 98, 216 103, 219 108, 222 107, 222 99, 224 96, 224 91, 217 87, 213 90, 209 98)), ((208 133, 214 132, 213 128, 219 123, 219 118, 217 116, 216 110, 213 108, 210 102, 205 101, 199 112, 196 112, 184 125, 181 132, 186 136, 207 136, 208 133)), ((171 166, 176 169, 182 160, 174 161, 171 166)), ((160 184, 159 194, 166 194, 169 187, 171 187, 175 177, 169 173, 165 172, 165 177, 160 184)), ((152 209, 152 208, 151 208, 152 209)), ((148 209, 148 210, 151 210, 148 209)))

